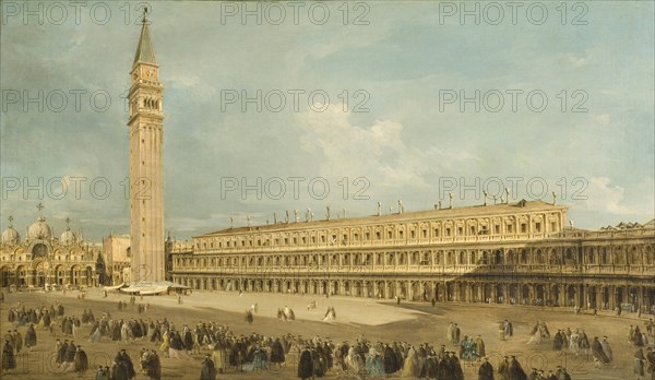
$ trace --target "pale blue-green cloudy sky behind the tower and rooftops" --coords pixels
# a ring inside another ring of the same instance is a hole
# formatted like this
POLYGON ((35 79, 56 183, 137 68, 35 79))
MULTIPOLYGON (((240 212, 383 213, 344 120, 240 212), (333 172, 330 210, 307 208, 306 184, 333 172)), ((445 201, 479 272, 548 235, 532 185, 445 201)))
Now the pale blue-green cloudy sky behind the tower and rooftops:
POLYGON ((580 228, 655 215, 652 1, 1 7, 0 226, 12 215, 23 237, 39 202, 56 234, 67 217, 87 240, 130 233, 143 7, 176 239, 327 206, 492 204, 507 188, 555 192, 580 228))

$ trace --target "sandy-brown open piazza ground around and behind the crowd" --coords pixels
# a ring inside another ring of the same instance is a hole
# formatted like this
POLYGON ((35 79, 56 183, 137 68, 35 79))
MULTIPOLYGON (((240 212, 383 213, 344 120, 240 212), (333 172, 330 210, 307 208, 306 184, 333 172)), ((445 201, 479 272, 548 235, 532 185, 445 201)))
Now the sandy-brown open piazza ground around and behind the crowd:
MULTIPOLYGON (((90 289, 85 299, 78 299, 78 292, 61 293, 11 293, 5 294, 5 302, 2 305, 2 331, 5 332, 14 326, 8 325, 8 308, 15 306, 22 300, 26 308, 41 305, 50 305, 60 301, 64 305, 66 314, 81 316, 83 309, 92 309, 96 317, 103 312, 109 312, 111 318, 140 318, 136 306, 129 306, 127 310, 118 310, 118 300, 128 301, 124 295, 109 294, 107 298, 102 297, 99 289, 90 289)), ((556 369, 564 366, 569 369, 573 379, 632 379, 632 361, 634 348, 627 343, 628 330, 631 324, 644 328, 647 318, 636 319, 635 314, 623 314, 615 317, 609 314, 575 316, 570 309, 564 308, 536 308, 520 306, 485 306, 466 304, 437 304, 432 307, 429 302, 402 302, 400 307, 392 301, 374 301, 365 298, 331 297, 312 298, 300 295, 281 294, 257 294, 257 293, 225 293, 225 292, 194 292, 189 296, 182 296, 182 304, 178 305, 175 296, 151 296, 144 297, 139 302, 150 302, 151 308, 141 318, 163 319, 168 318, 181 328, 189 324, 191 328, 199 321, 215 321, 227 324, 237 335, 257 332, 266 336, 279 336, 293 333, 305 337, 319 335, 330 337, 333 342, 354 342, 364 335, 369 341, 404 341, 415 345, 430 343, 437 346, 446 344, 445 332, 448 324, 454 321, 462 329, 462 336, 481 334, 487 347, 487 355, 497 367, 498 359, 502 355, 516 355, 524 369, 532 367, 543 369, 556 369), (307 310, 307 305, 315 300, 318 308, 307 310), (258 304, 259 310, 254 314, 254 322, 249 325, 243 318, 243 312, 253 302, 258 304), (296 313, 295 321, 282 322, 276 318, 277 308, 288 306, 296 313), (323 322, 322 317, 327 306, 336 310, 336 320, 323 322), (500 341, 497 328, 498 322, 509 319, 514 325, 514 336, 510 341, 500 341), (558 329, 584 329, 592 340, 594 336, 607 335, 614 351, 614 363, 609 368, 598 369, 594 367, 593 360, 584 356, 573 357, 571 355, 557 356, 551 351, 552 340, 546 340, 538 346, 527 345, 529 332, 537 320, 546 321, 553 334, 558 329)), ((646 317, 646 316, 644 316, 646 317)), ((59 319, 55 321, 59 328, 59 319)), ((26 328, 21 328, 24 336, 26 328)), ((132 344, 102 341, 100 343, 88 343, 90 326, 83 325, 81 332, 74 337, 76 344, 81 344, 90 357, 90 366, 93 368, 85 378, 95 377, 95 368, 98 365, 109 365, 120 348, 127 348, 132 361, 138 365, 138 353, 142 347, 156 348, 158 346, 145 341, 136 341, 132 344)), ((3 378, 7 379, 69 379, 76 378, 75 373, 61 373, 51 355, 53 353, 55 340, 63 339, 60 331, 55 329, 52 336, 44 331, 37 331, 38 343, 34 351, 25 352, 17 357, 17 368, 3 378)), ((652 342, 651 342, 652 345, 652 342)), ((458 351, 458 348, 454 348, 458 351)), ((204 355, 204 354, 203 354, 204 355)), ((194 354, 191 359, 170 359, 162 357, 163 379, 196 379, 200 376, 202 355, 194 354)), ((477 368, 464 367, 466 379, 477 379, 477 368)), ((291 379, 296 378, 296 364, 287 363, 283 369, 265 372, 238 373, 234 369, 228 373, 219 375, 221 379, 291 379)), ((329 372, 326 378, 337 378, 335 372, 329 372)), ((136 379, 145 379, 139 373, 136 379)))

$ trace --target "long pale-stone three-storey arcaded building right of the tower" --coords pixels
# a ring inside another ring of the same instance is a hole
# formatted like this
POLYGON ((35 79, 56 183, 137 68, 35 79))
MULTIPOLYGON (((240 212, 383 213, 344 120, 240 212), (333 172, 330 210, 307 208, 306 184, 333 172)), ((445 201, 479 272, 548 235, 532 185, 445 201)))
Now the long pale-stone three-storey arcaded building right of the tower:
POLYGON ((565 226, 541 201, 287 221, 171 252, 195 289, 655 310, 655 228, 565 226))

